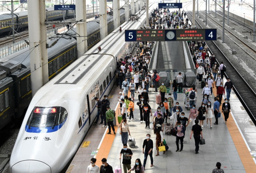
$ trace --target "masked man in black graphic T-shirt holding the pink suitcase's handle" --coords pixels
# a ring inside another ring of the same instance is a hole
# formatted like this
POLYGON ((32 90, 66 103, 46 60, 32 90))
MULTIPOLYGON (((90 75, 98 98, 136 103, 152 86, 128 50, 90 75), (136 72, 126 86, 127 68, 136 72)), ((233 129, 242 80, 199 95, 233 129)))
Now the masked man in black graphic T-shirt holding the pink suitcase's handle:
POLYGON ((131 169, 131 159, 132 159, 132 150, 127 148, 127 144, 123 144, 123 148, 121 149, 119 159, 121 160, 121 156, 123 154, 123 168, 124 173, 127 173, 127 170, 129 171, 131 169))

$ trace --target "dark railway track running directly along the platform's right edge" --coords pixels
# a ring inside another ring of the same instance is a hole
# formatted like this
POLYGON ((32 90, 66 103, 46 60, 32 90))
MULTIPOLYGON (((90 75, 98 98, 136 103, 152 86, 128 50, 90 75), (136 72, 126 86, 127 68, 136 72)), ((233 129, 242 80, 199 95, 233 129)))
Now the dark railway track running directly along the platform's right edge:
MULTIPOLYGON (((192 17, 190 11, 188 11, 187 14, 192 17)), ((189 20, 190 16, 188 16, 189 20)), ((196 19, 195 21, 201 28, 203 28, 196 19)), ((206 44, 210 49, 210 53, 215 53, 215 56, 217 57, 217 62, 220 64, 220 62, 223 61, 223 63, 227 67, 225 77, 229 77, 230 79, 232 79, 232 83, 234 85, 234 92, 246 109, 247 113, 252 119, 252 122, 256 125, 256 93, 253 91, 247 81, 242 77, 242 75, 237 71, 237 69, 232 65, 232 63, 228 60, 227 56, 225 56, 225 54, 221 51, 217 44, 215 44, 215 41, 206 41, 206 44)))

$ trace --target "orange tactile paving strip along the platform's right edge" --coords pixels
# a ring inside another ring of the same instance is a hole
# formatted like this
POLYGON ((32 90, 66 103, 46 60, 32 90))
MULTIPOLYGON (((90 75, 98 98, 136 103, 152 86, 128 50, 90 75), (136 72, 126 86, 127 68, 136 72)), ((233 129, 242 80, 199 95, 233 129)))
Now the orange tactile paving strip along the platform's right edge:
MULTIPOLYGON (((213 88, 213 94, 217 95, 216 88, 213 88)), ((224 102, 222 98, 222 103, 224 102)), ((222 104, 220 106, 220 110, 222 109, 222 104)), ((222 113, 222 116, 224 118, 224 114, 222 113)), ((239 129, 237 128, 237 125, 235 123, 235 120, 233 119, 232 115, 229 114, 229 118, 227 121, 227 128, 230 132, 230 135, 233 139, 233 142, 235 144, 235 147, 237 149, 237 152, 240 156, 240 159, 242 161, 242 164, 244 165, 245 171, 247 173, 255 173, 256 170, 256 164, 252 159, 252 155, 250 154, 250 151, 248 150, 245 141, 242 137, 242 135, 239 132, 239 129)))

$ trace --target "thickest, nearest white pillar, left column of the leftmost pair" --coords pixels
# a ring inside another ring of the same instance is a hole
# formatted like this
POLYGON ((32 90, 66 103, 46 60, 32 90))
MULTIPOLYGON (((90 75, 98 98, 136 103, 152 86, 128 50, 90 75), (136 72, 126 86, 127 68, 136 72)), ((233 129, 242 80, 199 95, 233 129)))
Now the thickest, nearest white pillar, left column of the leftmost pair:
POLYGON ((28 0, 29 47, 32 97, 43 86, 39 1, 28 0))

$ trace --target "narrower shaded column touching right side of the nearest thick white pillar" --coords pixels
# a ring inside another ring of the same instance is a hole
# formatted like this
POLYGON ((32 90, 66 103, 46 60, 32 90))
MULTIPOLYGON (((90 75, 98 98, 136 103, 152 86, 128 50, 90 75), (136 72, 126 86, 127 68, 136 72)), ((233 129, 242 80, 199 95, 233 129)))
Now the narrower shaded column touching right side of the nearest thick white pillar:
MULTIPOLYGON (((45 12, 45 0, 39 0, 39 17, 40 17, 40 36, 41 41, 47 40, 46 37, 46 12, 45 12)), ((42 66, 42 75, 43 75, 43 84, 46 84, 49 81, 49 74, 48 74, 48 55, 46 49, 46 42, 42 43, 41 45, 41 62, 42 66)))

